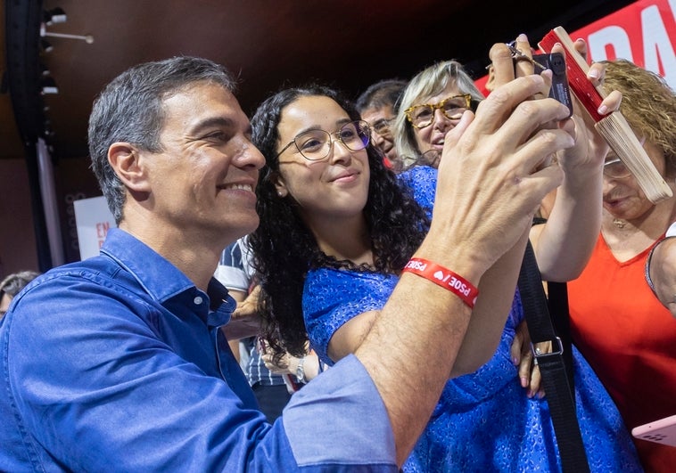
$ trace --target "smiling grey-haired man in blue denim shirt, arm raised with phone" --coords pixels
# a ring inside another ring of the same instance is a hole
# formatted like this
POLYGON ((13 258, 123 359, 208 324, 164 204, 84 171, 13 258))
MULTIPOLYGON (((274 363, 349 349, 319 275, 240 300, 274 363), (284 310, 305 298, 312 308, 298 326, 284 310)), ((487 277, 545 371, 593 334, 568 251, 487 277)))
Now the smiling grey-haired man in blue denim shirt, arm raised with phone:
MULTIPOLYGON (((449 134, 447 145, 461 143, 442 163, 458 165, 441 165, 417 257, 477 285, 523 252, 533 210, 562 178, 534 167, 569 146, 557 132, 527 136, 567 110, 534 101, 510 133, 495 130, 542 86, 511 82, 449 134)), ((397 471, 416 443, 471 314, 416 275, 402 275, 357 353, 281 419, 270 425, 257 409, 218 330, 235 302, 212 278, 222 249, 258 224, 264 159, 232 90, 225 69, 178 57, 129 69, 96 100, 92 167, 119 229, 100 256, 33 281, 0 322, 0 470, 397 471)))

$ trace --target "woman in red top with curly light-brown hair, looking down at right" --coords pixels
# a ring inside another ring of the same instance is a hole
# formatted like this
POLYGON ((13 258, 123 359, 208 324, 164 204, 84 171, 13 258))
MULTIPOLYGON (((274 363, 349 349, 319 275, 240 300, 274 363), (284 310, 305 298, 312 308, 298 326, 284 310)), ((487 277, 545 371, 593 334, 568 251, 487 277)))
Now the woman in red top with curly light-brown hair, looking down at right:
MULTIPOLYGON (((606 86, 676 194, 676 96, 628 61, 607 62, 606 86)), ((644 278, 650 249, 676 220, 676 197, 653 204, 613 152, 606 157, 596 248, 568 285, 573 341, 613 396, 627 428, 676 414, 676 319, 644 278)), ((635 439, 647 471, 673 471, 676 447, 635 439)))

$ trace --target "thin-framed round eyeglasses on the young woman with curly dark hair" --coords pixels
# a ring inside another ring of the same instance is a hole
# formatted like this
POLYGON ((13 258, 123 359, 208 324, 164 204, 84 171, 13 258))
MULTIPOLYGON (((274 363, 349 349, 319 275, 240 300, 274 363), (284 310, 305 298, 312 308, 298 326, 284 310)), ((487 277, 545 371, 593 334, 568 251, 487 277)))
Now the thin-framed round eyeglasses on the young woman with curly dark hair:
POLYGON ((368 146, 371 130, 367 122, 363 120, 351 121, 341 126, 341 129, 334 133, 324 130, 308 130, 296 135, 293 141, 288 143, 282 151, 277 153, 277 157, 286 151, 292 144, 301 153, 302 157, 309 161, 318 161, 325 159, 331 152, 335 143, 332 136, 335 136, 350 151, 363 150, 368 146))

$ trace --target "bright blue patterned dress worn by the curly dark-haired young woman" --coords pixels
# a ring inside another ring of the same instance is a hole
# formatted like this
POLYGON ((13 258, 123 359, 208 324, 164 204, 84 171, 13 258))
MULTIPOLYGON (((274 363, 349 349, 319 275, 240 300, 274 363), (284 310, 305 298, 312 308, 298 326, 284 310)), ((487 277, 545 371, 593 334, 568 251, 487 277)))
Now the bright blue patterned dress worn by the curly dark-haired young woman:
MULTIPOLYGON (((423 207, 431 208, 434 170, 417 167, 402 180, 423 207)), ((323 361, 332 363, 326 349, 335 330, 358 314, 382 308, 397 281, 388 274, 329 268, 308 274, 303 314, 310 342, 323 361)), ((510 361, 509 348, 522 320, 517 290, 495 355, 478 371, 449 380, 404 471, 560 470, 547 400, 525 395, 510 361)), ((573 360, 577 413, 591 471, 642 471, 606 389, 574 348, 573 360)))

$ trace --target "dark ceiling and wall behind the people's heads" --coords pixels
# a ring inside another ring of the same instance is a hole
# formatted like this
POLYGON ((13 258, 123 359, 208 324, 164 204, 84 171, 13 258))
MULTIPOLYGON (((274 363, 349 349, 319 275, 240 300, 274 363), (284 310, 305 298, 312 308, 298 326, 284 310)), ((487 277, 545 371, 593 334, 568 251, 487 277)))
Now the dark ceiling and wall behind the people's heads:
POLYGON ((356 96, 377 80, 407 79, 440 60, 461 61, 481 77, 493 43, 526 33, 534 44, 549 29, 572 32, 626 4, 631 1, 0 0, 0 277, 51 266, 31 144, 37 136, 52 151, 66 257, 78 259, 70 204, 100 193, 87 169, 87 117, 95 95, 131 65, 177 54, 221 62, 239 77, 237 96, 250 113, 281 86, 310 78, 356 96), (94 43, 45 37, 54 47, 45 53, 39 23, 42 11, 55 7, 68 19, 46 31, 92 35, 94 43), (42 67, 58 94, 39 94, 42 67))

